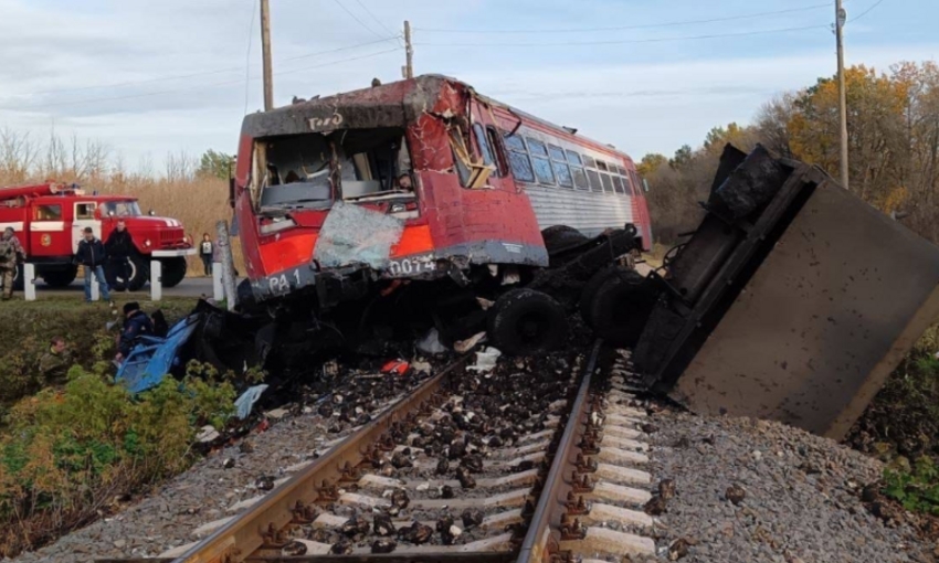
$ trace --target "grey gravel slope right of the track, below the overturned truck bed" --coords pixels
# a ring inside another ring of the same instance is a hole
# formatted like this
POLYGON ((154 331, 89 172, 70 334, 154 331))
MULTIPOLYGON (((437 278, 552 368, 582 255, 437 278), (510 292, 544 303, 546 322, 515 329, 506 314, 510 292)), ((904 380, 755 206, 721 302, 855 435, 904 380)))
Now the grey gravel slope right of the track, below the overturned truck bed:
POLYGON ((688 542, 680 561, 935 561, 910 527, 862 503, 883 471, 876 459, 771 422, 667 410, 654 418, 653 475, 677 487, 660 544, 688 542))

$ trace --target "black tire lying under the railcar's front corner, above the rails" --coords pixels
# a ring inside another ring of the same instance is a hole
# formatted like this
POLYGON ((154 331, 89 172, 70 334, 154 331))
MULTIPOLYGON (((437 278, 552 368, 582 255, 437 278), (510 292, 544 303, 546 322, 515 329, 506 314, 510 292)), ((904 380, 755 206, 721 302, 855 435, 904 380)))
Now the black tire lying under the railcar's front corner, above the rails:
POLYGON ((508 355, 557 349, 565 343, 567 334, 563 307, 541 291, 511 289, 489 309, 489 340, 508 355))

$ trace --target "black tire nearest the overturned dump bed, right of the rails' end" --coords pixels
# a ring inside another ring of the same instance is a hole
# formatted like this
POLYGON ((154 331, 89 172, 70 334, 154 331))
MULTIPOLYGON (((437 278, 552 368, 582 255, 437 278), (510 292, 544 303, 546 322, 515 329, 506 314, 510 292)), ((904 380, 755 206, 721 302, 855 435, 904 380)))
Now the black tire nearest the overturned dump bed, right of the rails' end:
POLYGON ((597 289, 589 306, 593 331, 616 347, 639 342, 658 291, 634 270, 620 270, 597 289))

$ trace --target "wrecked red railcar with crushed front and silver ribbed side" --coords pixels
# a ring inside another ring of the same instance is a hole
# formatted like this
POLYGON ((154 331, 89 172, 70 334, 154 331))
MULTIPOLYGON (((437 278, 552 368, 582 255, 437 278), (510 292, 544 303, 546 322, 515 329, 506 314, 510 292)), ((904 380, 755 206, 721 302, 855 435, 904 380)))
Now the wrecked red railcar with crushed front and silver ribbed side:
POLYGON ((392 301, 439 320, 463 295, 495 300, 490 332, 527 330, 534 350, 561 321, 519 288, 553 253, 626 224, 652 242, 629 156, 444 76, 246 116, 231 189, 241 294, 294 321, 358 302, 370 326, 392 301))

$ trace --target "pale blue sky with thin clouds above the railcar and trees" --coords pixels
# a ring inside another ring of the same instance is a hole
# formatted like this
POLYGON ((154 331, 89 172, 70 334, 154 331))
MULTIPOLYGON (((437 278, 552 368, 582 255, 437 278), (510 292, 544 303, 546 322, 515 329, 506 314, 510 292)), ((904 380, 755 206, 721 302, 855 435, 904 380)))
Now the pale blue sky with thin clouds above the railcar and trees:
MULTIPOLYGON (((418 74, 458 77, 635 158, 698 145, 835 72, 833 0, 271 4, 278 105, 397 79, 404 52, 390 38, 409 19, 418 74)), ((845 6, 848 64, 939 57, 939 2, 845 6)), ((245 110, 262 105, 256 11, 256 0, 0 0, 0 128, 102 141, 130 168, 233 152, 245 110)))

